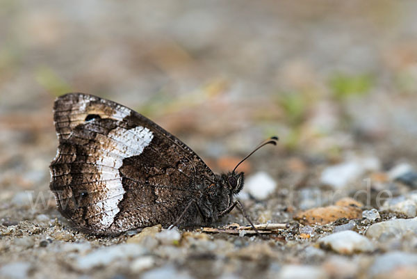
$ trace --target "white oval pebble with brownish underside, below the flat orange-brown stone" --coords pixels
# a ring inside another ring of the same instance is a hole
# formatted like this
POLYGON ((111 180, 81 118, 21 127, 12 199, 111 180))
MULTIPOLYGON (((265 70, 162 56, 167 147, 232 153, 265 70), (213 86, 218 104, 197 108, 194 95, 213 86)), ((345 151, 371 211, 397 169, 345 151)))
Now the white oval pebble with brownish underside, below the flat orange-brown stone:
POLYGON ((369 239, 352 230, 344 230, 343 232, 336 232, 327 237, 322 237, 318 240, 318 244, 345 255, 372 252, 375 250, 375 247, 369 239))

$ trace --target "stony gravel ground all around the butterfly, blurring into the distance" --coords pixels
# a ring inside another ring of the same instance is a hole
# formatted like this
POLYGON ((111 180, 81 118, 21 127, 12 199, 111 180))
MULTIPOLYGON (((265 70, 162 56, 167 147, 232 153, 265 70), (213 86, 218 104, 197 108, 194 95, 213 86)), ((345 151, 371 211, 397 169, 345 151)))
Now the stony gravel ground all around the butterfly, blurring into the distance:
POLYGON ((414 1, 1 1, 0 278, 415 278, 414 1), (210 228, 94 237, 49 191, 52 104, 79 91, 227 171, 210 228), (268 224, 266 226, 265 224, 268 224), (263 228, 266 226, 266 228, 263 228))

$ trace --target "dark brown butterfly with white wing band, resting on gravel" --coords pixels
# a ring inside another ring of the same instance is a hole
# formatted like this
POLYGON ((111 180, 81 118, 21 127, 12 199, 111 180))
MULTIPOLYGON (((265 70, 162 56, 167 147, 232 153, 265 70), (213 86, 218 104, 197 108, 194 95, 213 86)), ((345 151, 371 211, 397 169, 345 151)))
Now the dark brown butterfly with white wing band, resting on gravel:
POLYGON ((101 235, 156 224, 210 224, 235 206, 243 211, 234 198, 244 180, 236 168, 278 139, 259 145, 233 171, 216 175, 177 137, 107 99, 60 96, 54 124, 59 145, 50 189, 58 209, 76 228, 101 235))

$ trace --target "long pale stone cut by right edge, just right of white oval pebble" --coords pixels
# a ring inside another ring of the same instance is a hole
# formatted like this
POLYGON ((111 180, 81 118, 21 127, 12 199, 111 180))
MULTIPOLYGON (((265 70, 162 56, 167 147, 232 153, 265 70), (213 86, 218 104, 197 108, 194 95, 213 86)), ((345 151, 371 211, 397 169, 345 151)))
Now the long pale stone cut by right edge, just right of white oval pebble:
POLYGON ((412 219, 395 219, 371 225, 366 231, 366 237, 380 241, 392 237, 402 237, 409 232, 417 234, 417 217, 412 219))

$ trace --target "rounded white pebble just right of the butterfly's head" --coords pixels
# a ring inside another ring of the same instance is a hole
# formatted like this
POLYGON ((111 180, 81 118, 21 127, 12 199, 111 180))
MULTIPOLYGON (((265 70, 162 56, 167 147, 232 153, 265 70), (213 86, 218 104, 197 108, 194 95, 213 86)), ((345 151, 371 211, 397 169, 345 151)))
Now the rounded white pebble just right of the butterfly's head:
POLYGON ((277 182, 265 172, 256 173, 245 181, 243 191, 250 193, 256 200, 265 200, 277 188, 277 182))

